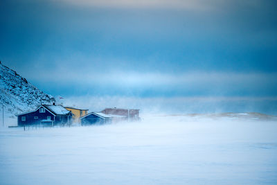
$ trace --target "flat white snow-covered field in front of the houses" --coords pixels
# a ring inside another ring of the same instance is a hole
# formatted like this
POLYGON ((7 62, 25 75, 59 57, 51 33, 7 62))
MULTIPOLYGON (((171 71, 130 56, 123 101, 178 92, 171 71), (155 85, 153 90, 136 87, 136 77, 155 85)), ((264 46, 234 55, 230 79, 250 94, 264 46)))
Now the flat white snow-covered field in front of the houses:
POLYGON ((277 184, 274 120, 145 116, 0 128, 0 184, 277 184))

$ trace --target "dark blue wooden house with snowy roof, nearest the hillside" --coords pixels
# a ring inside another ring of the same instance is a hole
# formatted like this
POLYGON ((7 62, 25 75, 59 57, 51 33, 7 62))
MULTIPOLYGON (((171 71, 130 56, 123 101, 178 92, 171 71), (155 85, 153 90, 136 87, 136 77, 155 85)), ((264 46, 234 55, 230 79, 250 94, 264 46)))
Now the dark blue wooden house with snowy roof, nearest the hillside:
POLYGON ((40 105, 32 112, 17 114, 17 124, 23 125, 57 125, 70 124, 72 112, 62 107, 62 105, 40 105))

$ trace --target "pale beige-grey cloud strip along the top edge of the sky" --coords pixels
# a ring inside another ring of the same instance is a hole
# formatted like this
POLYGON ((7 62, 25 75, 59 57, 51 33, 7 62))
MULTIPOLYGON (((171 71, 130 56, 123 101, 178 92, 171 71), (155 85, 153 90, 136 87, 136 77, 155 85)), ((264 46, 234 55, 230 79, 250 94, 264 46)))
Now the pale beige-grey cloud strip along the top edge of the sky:
MULTIPOLYGON (((53 0, 54 1, 54 0, 53 0)), ((265 4, 261 0, 252 1, 220 1, 220 0, 55 0, 75 6, 95 6, 103 8, 165 8, 179 10, 220 10, 230 6, 260 7, 265 4)))

